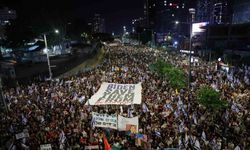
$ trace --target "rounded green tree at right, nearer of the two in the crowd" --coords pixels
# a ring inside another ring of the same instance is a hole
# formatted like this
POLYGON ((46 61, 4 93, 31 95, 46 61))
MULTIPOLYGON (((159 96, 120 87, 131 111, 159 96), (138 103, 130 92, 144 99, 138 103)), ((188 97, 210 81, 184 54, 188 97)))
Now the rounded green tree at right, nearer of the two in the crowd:
POLYGON ((220 93, 208 85, 202 86, 197 91, 197 100, 199 104, 212 110, 225 108, 228 105, 227 101, 220 100, 220 93))

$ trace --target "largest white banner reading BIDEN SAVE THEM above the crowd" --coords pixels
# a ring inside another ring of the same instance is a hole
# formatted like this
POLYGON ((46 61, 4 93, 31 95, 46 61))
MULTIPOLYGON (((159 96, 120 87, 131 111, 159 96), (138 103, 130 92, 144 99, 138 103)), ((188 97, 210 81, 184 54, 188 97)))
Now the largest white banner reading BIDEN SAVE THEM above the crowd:
POLYGON ((116 84, 103 82, 100 89, 85 105, 141 104, 141 83, 116 84))

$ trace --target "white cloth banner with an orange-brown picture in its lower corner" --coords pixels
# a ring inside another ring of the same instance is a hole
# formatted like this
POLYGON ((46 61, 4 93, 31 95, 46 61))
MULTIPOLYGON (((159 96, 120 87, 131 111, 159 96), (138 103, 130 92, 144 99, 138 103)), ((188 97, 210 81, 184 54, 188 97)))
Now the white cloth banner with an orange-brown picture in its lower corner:
POLYGON ((118 130, 119 131, 131 131, 131 133, 138 133, 139 118, 125 118, 118 115, 118 130))

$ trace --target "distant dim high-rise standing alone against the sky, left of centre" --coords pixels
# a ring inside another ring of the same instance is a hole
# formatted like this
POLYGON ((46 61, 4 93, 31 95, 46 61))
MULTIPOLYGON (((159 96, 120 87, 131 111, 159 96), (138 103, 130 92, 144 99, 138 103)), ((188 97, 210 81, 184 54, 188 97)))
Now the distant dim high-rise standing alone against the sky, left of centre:
POLYGON ((92 22, 94 33, 104 33, 105 32, 105 20, 100 14, 95 14, 92 22))

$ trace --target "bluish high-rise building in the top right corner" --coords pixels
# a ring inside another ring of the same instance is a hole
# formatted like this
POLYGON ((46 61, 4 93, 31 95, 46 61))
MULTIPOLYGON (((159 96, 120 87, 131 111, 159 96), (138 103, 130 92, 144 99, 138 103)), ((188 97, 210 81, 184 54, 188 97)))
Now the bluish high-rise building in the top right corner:
POLYGON ((248 23, 250 22, 250 1, 237 0, 233 5, 233 23, 248 23))

